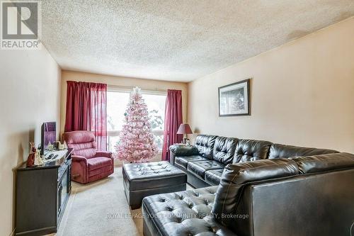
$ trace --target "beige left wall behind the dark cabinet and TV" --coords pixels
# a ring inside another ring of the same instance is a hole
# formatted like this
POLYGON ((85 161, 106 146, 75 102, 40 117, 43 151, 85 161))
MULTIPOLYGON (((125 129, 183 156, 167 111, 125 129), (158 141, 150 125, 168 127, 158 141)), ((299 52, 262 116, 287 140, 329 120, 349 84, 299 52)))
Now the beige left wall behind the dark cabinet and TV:
POLYGON ((59 125, 60 68, 42 50, 0 50, 0 235, 13 231, 14 172, 40 143, 45 121, 59 125))

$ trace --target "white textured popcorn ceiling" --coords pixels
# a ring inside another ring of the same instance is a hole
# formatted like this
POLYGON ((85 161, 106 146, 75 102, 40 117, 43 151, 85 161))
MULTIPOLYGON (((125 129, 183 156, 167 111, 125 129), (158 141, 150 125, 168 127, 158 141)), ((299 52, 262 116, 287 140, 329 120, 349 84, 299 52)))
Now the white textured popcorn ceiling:
POLYGON ((354 0, 42 1, 63 69, 190 82, 354 16, 354 0))

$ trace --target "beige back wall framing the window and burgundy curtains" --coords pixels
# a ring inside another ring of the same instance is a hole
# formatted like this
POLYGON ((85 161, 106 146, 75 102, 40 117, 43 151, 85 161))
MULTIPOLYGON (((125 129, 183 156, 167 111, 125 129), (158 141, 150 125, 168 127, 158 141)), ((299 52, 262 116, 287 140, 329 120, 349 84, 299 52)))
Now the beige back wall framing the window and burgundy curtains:
MULTIPOLYGON (((113 77, 103 74, 91 74, 86 72, 72 72, 62 71, 62 99, 61 99, 61 128, 60 134, 64 132, 66 102, 67 102, 67 81, 81 81, 81 82, 96 82, 105 83, 109 86, 139 86, 143 90, 149 91, 167 91, 167 89, 180 89, 182 90, 182 105, 183 105, 183 121, 187 120, 187 89, 188 85, 181 82, 165 82, 160 80, 151 79, 135 79, 127 77, 113 77)), ((126 104, 123 104, 125 106, 126 104)), ((154 160, 161 159, 161 155, 155 157, 154 160)), ((121 164, 116 162, 116 164, 121 164)))

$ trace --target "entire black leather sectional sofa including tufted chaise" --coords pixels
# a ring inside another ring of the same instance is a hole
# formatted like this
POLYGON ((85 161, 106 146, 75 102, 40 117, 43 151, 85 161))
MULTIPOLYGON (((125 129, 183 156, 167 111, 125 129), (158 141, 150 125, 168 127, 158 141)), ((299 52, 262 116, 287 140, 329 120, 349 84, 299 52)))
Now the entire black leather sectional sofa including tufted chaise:
POLYGON ((144 198, 145 236, 353 230, 354 154, 213 135, 170 150, 188 182, 207 187, 144 198))

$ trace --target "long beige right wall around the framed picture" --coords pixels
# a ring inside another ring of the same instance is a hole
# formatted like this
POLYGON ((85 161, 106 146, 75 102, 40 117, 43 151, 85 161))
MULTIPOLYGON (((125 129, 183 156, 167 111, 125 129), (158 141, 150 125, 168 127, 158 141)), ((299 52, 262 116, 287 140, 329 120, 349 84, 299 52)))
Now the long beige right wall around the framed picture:
POLYGON ((200 133, 354 153, 354 18, 188 85, 200 133), (218 116, 219 86, 251 81, 251 116, 218 116))

